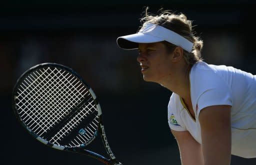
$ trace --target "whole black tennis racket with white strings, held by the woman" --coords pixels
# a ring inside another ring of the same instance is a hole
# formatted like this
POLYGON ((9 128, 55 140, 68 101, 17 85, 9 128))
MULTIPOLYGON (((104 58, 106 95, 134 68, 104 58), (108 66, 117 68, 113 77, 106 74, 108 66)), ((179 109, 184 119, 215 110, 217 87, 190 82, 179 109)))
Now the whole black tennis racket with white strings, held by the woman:
POLYGON ((107 142, 94 92, 72 69, 56 63, 31 67, 13 88, 12 109, 30 135, 44 145, 84 154, 105 165, 122 165, 107 142), (85 149, 97 134, 109 159, 85 149))

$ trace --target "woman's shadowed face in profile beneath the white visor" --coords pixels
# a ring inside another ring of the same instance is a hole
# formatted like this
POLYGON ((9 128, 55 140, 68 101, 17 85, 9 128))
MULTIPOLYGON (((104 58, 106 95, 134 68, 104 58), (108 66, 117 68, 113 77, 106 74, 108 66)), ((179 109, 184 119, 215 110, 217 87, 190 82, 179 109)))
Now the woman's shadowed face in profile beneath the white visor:
POLYGON ((163 43, 139 43, 138 50, 137 61, 145 81, 161 83, 169 78, 171 53, 167 53, 163 43))

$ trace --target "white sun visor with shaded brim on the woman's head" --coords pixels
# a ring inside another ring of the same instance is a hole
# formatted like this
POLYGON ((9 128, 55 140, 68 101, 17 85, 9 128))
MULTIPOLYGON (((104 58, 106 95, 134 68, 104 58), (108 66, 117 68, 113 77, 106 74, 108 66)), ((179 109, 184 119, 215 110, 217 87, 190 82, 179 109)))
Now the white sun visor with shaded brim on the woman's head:
POLYGON ((123 49, 137 49, 138 43, 160 41, 167 41, 188 52, 191 52, 193 47, 193 43, 186 38, 154 23, 144 23, 137 33, 120 36, 116 39, 117 45, 123 49))

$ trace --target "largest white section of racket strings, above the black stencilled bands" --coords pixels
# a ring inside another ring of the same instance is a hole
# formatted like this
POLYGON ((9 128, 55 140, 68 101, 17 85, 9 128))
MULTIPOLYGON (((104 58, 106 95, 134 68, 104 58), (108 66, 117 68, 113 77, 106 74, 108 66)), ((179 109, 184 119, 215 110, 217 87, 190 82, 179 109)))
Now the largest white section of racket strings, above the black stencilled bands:
POLYGON ((77 78, 70 78, 70 73, 61 71, 48 67, 32 72, 18 89, 16 106, 19 115, 39 136, 68 114, 88 93, 77 78))

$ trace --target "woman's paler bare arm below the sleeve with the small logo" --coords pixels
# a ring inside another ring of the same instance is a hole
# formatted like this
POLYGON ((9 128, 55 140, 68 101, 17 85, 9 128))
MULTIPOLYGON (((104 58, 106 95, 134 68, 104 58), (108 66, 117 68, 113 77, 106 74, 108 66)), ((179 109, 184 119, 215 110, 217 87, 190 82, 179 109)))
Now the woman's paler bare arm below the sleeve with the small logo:
POLYGON ((171 130, 175 137, 182 165, 203 165, 201 145, 197 143, 188 131, 171 130))

